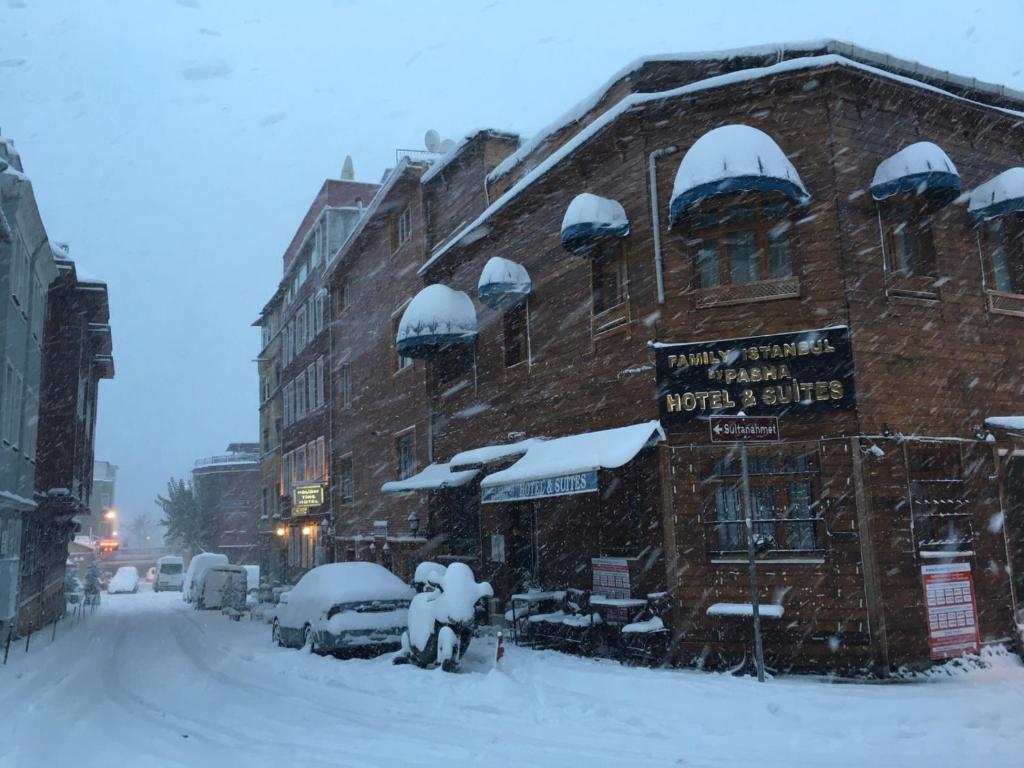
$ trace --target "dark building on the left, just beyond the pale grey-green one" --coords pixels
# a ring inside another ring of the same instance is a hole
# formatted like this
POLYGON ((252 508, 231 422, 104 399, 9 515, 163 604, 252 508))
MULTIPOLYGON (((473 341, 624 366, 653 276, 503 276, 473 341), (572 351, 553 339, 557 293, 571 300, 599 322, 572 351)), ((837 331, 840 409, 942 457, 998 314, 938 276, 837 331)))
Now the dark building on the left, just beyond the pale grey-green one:
POLYGON ((67 248, 54 251, 43 334, 36 464, 38 507, 22 534, 23 633, 65 610, 68 545, 89 515, 99 382, 114 378, 106 284, 78 274, 67 248))

